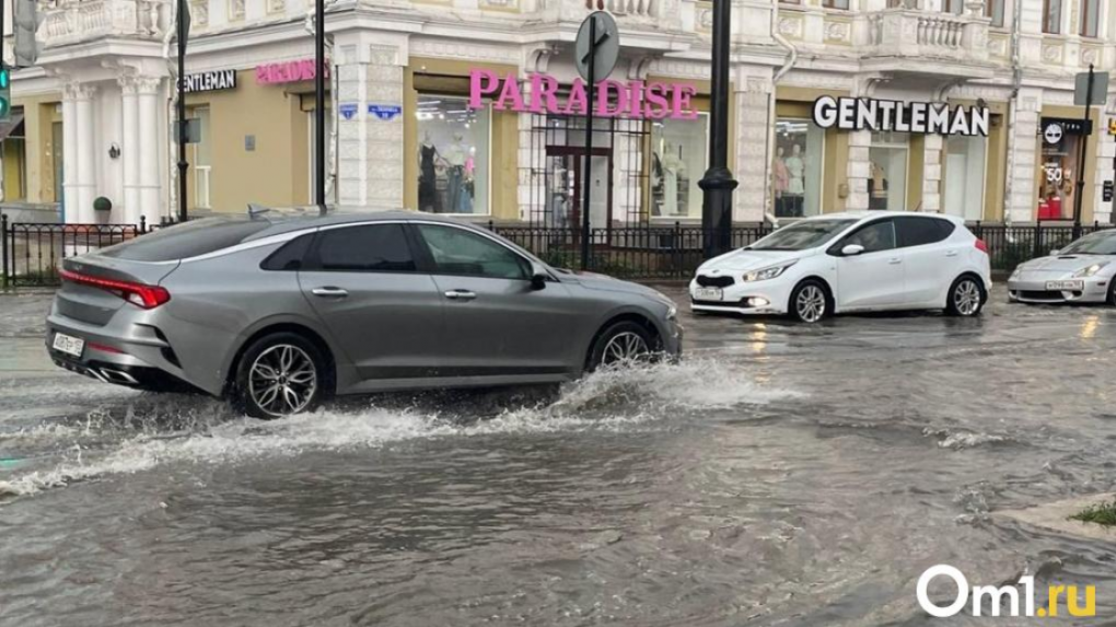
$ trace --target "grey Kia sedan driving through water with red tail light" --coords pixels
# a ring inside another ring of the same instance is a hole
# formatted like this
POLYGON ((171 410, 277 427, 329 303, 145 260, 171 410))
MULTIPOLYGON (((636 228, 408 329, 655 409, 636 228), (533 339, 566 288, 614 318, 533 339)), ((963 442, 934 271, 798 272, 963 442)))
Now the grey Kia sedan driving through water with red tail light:
POLYGON ((61 279, 58 366, 262 418, 333 394, 565 382, 682 344, 651 288, 410 212, 198 220, 66 259, 61 279))

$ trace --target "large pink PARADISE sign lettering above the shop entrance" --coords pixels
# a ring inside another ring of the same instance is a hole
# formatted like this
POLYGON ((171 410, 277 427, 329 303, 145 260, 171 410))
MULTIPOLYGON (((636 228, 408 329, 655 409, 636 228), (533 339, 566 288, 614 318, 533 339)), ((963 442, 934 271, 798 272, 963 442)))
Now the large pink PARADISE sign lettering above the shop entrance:
MULTIPOLYGON (((585 115, 588 90, 585 81, 574 79, 566 102, 558 99, 558 79, 547 74, 532 74, 523 83, 530 86, 525 97, 522 85, 514 73, 504 76, 487 70, 469 73, 469 107, 484 107, 484 98, 492 99, 492 108, 518 113, 551 113, 585 115)), ((696 119, 693 85, 675 83, 646 83, 643 80, 602 80, 597 83, 597 106, 594 115, 600 117, 631 117, 635 119, 696 119)))

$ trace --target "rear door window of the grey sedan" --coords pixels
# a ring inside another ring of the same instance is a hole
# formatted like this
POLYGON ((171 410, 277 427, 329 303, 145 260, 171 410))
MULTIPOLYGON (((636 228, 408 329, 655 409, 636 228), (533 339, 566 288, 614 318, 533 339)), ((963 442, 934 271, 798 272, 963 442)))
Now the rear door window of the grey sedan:
POLYGON ((417 270, 403 224, 362 224, 318 232, 307 269, 349 272, 417 270))

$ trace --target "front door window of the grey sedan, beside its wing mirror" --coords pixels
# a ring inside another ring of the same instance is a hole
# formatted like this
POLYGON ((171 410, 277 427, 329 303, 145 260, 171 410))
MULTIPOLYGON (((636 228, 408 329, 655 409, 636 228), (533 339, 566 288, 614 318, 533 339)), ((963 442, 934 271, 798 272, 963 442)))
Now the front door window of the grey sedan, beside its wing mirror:
POLYGON ((435 272, 490 279, 529 279, 530 263, 507 247, 455 226, 419 224, 435 272))

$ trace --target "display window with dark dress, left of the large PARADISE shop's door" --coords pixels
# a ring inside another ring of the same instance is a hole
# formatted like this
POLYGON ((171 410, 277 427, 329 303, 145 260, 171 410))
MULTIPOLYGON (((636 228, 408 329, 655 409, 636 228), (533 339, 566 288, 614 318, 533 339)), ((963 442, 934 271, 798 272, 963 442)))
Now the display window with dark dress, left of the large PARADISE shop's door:
POLYGON ((490 213, 489 107, 470 109, 468 99, 419 95, 419 210, 430 213, 490 213))

